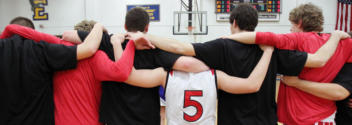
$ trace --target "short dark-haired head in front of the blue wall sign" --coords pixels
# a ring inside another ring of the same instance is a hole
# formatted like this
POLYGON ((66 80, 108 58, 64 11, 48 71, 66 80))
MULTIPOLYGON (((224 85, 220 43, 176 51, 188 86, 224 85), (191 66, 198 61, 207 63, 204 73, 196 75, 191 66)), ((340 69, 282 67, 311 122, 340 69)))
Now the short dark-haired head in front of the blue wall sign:
POLYGON ((148 12, 140 7, 130 9, 125 18, 125 25, 128 32, 144 32, 146 26, 149 24, 148 12))

